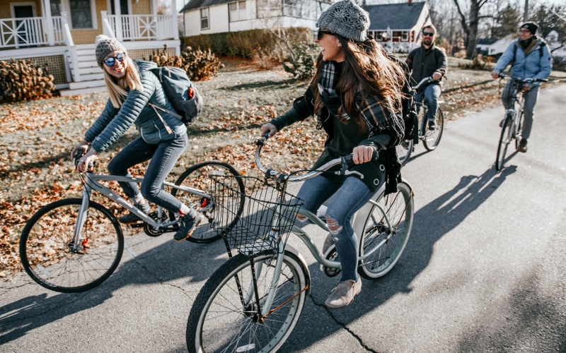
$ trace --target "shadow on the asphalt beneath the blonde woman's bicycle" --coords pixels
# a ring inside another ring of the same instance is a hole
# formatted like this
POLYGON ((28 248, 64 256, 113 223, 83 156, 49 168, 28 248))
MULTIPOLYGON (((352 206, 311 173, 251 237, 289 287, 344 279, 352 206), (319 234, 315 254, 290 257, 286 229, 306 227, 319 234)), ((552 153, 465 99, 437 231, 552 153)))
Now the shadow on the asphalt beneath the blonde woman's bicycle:
MULTIPOLYGON (((161 237, 171 239, 172 235, 163 234, 161 237)), ((86 292, 48 295, 45 293, 47 289, 29 279, 31 285, 37 286, 37 292, 44 293, 4 303, 0 307, 0 345, 23 337, 30 330, 103 304, 122 287, 135 285, 143 288, 144 285, 185 278, 186 283, 201 282, 226 261, 222 256, 226 254, 226 247, 221 240, 211 244, 193 244, 171 239, 144 253, 135 253, 141 241, 151 241, 151 238, 143 232, 134 237, 125 237, 127 246, 115 273, 98 287, 86 292), (203 266, 204 263, 207 265, 203 266)), ((179 287, 183 290, 183 287, 179 287)))

